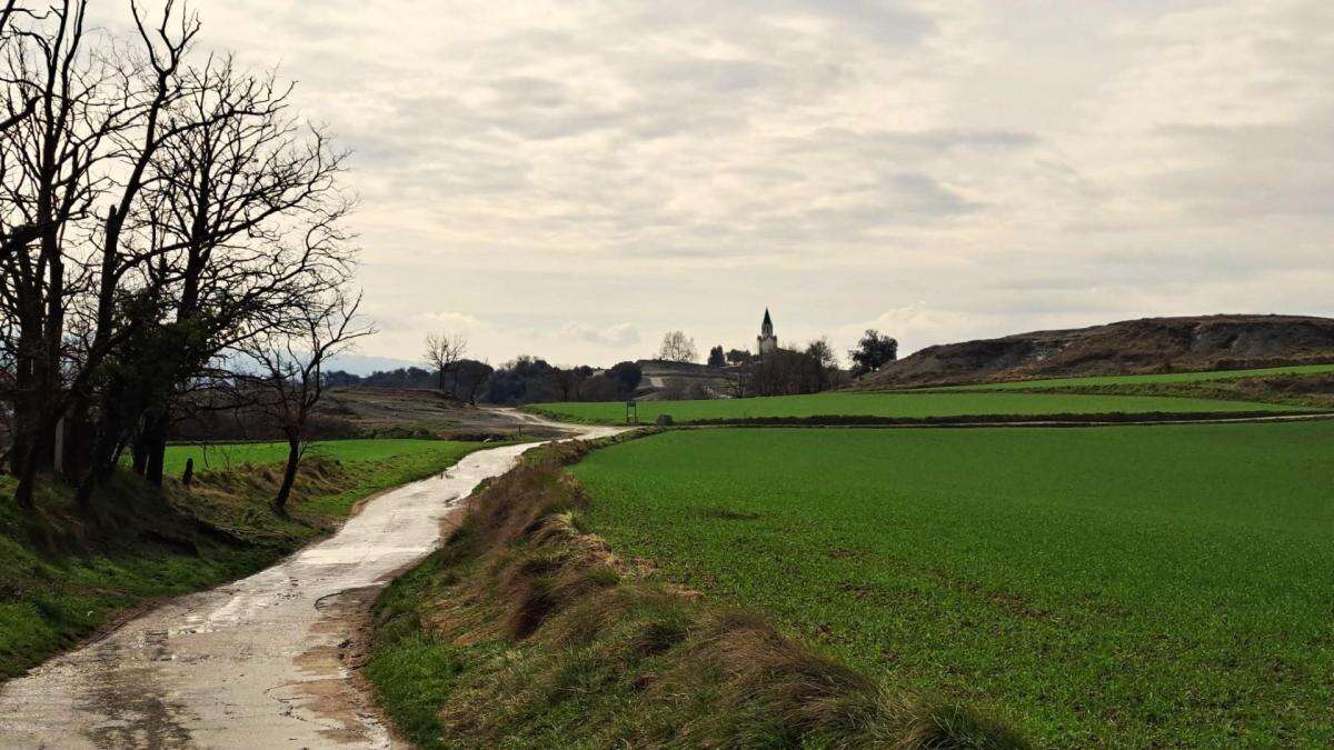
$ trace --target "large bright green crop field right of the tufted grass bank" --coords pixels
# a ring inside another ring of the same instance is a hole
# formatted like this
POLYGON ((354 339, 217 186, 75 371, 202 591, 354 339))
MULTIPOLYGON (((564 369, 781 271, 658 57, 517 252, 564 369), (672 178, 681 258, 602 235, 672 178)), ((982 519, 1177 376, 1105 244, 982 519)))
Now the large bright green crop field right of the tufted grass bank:
POLYGON ((1334 743, 1334 422, 670 431, 623 556, 1050 746, 1334 743))

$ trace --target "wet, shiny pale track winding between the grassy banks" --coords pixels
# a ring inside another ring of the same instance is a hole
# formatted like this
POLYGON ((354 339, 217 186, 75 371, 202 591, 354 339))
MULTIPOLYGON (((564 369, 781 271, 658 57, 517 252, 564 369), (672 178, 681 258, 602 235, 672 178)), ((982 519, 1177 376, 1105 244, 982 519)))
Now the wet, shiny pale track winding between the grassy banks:
MULTIPOLYGON (((579 427, 596 438, 618 428, 579 427)), ((474 452, 334 536, 189 594, 0 687, 0 747, 391 747, 347 659, 375 595, 532 444, 474 452)))

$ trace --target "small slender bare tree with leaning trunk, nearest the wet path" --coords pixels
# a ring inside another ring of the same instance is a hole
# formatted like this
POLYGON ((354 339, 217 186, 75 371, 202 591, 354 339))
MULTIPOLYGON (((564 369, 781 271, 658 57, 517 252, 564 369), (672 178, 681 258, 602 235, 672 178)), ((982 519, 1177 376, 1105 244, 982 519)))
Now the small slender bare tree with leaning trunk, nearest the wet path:
POLYGON ((283 328, 269 328, 247 339, 239 351, 259 366, 257 374, 240 374, 245 395, 269 416, 287 440, 283 482, 273 495, 273 511, 287 515, 296 471, 305 447, 305 427, 315 404, 324 394, 323 367, 328 359, 374 328, 358 320, 362 298, 350 299, 335 291, 324 300, 312 300, 283 328))

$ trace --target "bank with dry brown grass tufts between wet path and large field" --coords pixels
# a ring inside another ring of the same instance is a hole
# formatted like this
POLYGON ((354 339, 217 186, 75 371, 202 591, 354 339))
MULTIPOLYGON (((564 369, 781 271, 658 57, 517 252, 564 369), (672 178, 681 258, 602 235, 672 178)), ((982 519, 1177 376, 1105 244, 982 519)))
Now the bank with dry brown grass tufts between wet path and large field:
POLYGON ((582 530, 580 452, 488 483, 379 599, 366 674, 416 746, 1023 746, 620 560, 582 530))

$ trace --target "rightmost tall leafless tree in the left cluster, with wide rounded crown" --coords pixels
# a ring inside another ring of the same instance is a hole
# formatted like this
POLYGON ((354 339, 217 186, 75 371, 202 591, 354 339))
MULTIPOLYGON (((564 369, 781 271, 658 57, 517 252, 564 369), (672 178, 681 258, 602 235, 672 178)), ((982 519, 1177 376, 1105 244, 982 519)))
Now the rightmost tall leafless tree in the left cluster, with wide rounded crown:
MULTIPOLYGON (((346 152, 289 113, 291 87, 229 57, 189 77, 175 115, 200 127, 157 149, 143 230, 161 259, 155 283, 172 300, 177 383, 253 335, 251 322, 340 287, 351 262, 340 227, 352 200, 338 183, 346 152)), ((152 483, 172 422, 173 394, 159 396, 135 442, 135 468, 152 483)))

